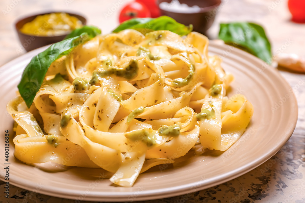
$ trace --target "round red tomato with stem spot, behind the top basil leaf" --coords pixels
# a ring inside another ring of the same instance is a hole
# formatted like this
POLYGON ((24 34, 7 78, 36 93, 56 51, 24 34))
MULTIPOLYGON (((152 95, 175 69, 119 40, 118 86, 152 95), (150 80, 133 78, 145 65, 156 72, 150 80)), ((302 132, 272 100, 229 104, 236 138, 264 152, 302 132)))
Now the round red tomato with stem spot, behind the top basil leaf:
POLYGON ((150 18, 150 12, 148 8, 139 2, 128 3, 120 12, 119 22, 122 23, 125 20, 132 18, 150 18))

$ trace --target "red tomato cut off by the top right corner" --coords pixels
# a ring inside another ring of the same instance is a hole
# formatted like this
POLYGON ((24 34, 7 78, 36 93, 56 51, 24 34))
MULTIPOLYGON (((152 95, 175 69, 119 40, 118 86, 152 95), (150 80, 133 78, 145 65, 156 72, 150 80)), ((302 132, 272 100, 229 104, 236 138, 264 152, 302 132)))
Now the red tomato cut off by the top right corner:
POLYGON ((305 1, 289 0, 288 8, 292 14, 292 20, 297 23, 305 23, 305 1))

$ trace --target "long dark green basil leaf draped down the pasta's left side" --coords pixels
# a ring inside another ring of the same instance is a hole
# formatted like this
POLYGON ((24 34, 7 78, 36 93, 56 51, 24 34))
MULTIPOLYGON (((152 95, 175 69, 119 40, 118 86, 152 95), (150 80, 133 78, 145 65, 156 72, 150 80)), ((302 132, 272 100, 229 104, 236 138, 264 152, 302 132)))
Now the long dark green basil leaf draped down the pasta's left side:
POLYGON ((86 26, 72 31, 66 40, 57 42, 48 47, 45 51, 34 56, 21 76, 18 85, 19 93, 30 108, 36 93, 45 78, 45 74, 53 61, 69 54, 74 47, 95 37, 101 31, 93 26, 86 26), (86 31, 85 33, 82 31, 86 31), (88 34, 89 33, 89 34, 88 34), (79 34, 79 36, 74 36, 79 34))

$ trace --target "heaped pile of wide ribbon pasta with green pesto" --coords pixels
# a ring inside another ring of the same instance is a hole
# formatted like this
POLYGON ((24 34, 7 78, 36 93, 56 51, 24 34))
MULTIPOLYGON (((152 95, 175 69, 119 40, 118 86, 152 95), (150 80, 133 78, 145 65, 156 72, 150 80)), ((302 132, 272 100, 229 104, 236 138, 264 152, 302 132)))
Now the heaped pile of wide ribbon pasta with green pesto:
POLYGON ((131 187, 153 166, 239 139, 253 106, 243 95, 226 97, 232 80, 202 34, 99 35, 52 63, 29 109, 20 96, 8 103, 14 155, 102 168, 131 187))

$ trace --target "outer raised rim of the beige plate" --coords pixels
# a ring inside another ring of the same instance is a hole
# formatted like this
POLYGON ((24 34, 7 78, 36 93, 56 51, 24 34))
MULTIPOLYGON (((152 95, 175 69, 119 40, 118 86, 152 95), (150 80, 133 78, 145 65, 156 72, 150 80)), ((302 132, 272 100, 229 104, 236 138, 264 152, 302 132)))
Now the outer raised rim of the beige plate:
MULTIPOLYGON (((37 48, 35 50, 32 50, 30 52, 27 52, 5 64, 3 64, 0 67, 0 71, 4 68, 9 68, 11 65, 14 65, 16 63, 19 63, 21 61, 25 61, 25 60, 29 60, 31 57, 33 57, 34 55, 36 55, 36 52, 39 53, 40 51, 46 49, 49 45, 44 46, 44 47, 40 47, 37 48), (39 52, 38 52, 39 51, 39 52)), ((231 49, 229 45, 226 44, 218 44, 216 42, 213 41, 209 41, 209 48, 210 47, 214 47, 214 48, 218 48, 221 50, 226 50, 226 49, 230 49, 231 52, 230 54, 234 54, 234 55, 238 55, 238 57, 245 57, 245 58, 249 58, 252 61, 257 62, 260 65, 266 65, 266 63, 264 61, 262 61, 261 59, 245 52, 242 51, 238 48, 234 48, 231 49)), ((284 85, 285 87, 290 87, 289 83, 286 81, 286 79, 280 74, 280 72, 278 72, 278 70, 276 70, 275 68, 271 67, 270 65, 267 65, 267 68, 264 69, 264 71, 268 71, 269 73, 271 73, 273 76, 279 78, 282 80, 282 85, 284 85)), ((294 107, 291 109, 291 113, 290 115, 294 114, 294 121, 290 122, 290 128, 289 128, 289 132, 286 131, 286 136, 285 139, 282 140, 282 142, 280 142, 276 147, 274 147, 274 149, 272 151, 270 151, 267 154, 261 155, 260 157, 258 157, 257 159, 251 160, 249 163, 247 163, 246 165, 239 167, 233 171, 229 171, 227 173, 221 174, 219 176, 217 176, 217 178, 213 178, 213 180, 210 180, 208 182, 208 184, 204 184, 202 183, 202 181, 197 181, 197 182, 193 182, 193 183, 189 183, 189 184, 184 184, 184 185, 180 185, 180 186, 174 186, 174 187, 168 187, 168 188, 163 188, 163 189, 156 189, 156 190, 146 190, 143 191, 141 194, 138 195, 138 197, 136 198, 135 201, 142 201, 142 200, 154 200, 154 199, 160 199, 160 198, 168 198, 168 197, 173 197, 173 196, 178 196, 178 195, 182 195, 182 194, 187 194, 189 193, 190 189, 196 185, 195 190, 191 191, 191 192, 196 192, 196 191, 200 191, 209 187, 213 187, 215 185, 218 184, 222 184, 225 183, 229 180, 232 180, 236 177, 242 176, 245 173, 248 173, 249 171, 257 168, 258 166, 260 166, 261 164, 265 163, 268 159, 270 159, 272 156, 274 156, 274 154, 276 154, 284 145, 285 143, 289 140, 289 138, 292 136, 293 131, 296 127, 296 123, 298 120, 298 104, 297 104, 297 100, 296 100, 296 96, 295 94, 292 92, 292 100, 291 100, 291 106, 294 107), (216 179, 216 180, 214 180, 216 179), (198 186, 199 185, 199 186, 198 186), (156 195, 157 193, 157 195, 156 195)), ((284 133, 284 132, 283 132, 284 133)), ((284 138, 284 137, 283 137, 284 138)), ((2 177, 2 174, 0 176, 0 179, 2 181, 5 181, 4 178, 2 177)), ((34 182, 32 183, 27 183, 27 182, 20 182, 20 181, 9 181, 10 184, 15 185, 17 187, 21 187, 24 188, 26 190, 29 191, 33 191, 35 190, 35 187, 33 186, 34 182), (32 187, 30 187, 32 185, 32 187)), ((51 189, 47 188, 45 190, 40 190, 39 193, 41 194, 46 194, 49 196, 54 196, 54 197, 59 197, 59 198, 70 198, 70 199, 77 199, 77 197, 79 197, 79 192, 83 192, 80 190, 71 190, 69 192, 69 194, 66 193, 66 190, 63 193, 57 193, 58 190, 54 190, 54 188, 51 189), (54 193, 56 192, 56 193, 54 193), (55 194, 55 195, 54 195, 55 194), (77 195, 78 194, 78 195, 77 195)), ((126 201, 127 197, 135 194, 134 191, 128 191, 128 192, 119 192, 118 194, 115 194, 117 192, 102 192, 99 194, 103 194, 105 193, 105 195, 100 195, 100 196, 94 196, 96 192, 91 191, 91 195, 87 195, 86 197, 83 198, 83 200, 87 200, 87 201, 126 201)))

